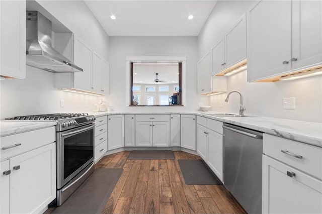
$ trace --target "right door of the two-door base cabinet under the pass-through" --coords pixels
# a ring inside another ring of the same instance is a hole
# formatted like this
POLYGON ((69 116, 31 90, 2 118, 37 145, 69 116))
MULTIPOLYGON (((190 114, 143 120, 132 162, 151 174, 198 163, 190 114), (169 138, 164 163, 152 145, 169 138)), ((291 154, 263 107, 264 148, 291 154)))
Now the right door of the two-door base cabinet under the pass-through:
POLYGON ((170 122, 152 122, 152 146, 169 146, 170 122))

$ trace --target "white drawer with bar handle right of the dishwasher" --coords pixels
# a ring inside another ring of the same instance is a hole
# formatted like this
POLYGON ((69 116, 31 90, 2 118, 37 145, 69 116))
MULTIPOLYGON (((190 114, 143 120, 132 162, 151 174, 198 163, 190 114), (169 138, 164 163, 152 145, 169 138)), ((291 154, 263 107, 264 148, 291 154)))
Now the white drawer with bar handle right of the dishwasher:
POLYGON ((263 142, 264 154, 322 179, 322 148, 265 133, 263 142))

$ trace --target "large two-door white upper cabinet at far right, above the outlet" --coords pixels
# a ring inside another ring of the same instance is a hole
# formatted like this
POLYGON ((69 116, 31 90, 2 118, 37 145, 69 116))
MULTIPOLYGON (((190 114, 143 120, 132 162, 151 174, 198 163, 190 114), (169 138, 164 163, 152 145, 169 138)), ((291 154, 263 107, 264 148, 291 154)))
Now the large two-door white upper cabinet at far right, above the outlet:
POLYGON ((260 1, 247 14, 248 81, 322 63, 321 1, 260 1))

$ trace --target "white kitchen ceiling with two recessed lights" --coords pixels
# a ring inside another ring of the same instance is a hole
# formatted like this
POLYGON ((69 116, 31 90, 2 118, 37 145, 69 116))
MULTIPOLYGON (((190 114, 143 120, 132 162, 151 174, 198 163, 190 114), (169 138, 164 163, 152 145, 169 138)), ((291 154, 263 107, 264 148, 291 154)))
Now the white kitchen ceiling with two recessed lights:
POLYGON ((109 36, 198 36, 216 0, 85 0, 109 36), (116 16, 115 20, 110 18, 116 16), (194 19, 188 20, 193 15, 194 19))

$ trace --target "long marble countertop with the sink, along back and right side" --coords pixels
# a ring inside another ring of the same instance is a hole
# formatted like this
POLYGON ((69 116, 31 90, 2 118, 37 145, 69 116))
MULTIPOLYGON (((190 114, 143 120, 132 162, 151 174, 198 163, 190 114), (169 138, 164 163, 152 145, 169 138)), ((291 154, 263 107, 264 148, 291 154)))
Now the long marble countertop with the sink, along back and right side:
POLYGON ((280 118, 266 118, 266 117, 216 117, 209 114, 216 114, 220 112, 167 112, 167 113, 125 113, 125 112, 95 112, 89 113, 96 117, 106 115, 120 115, 120 114, 185 114, 197 115, 224 123, 233 124, 249 129, 258 130, 266 134, 279 136, 315 146, 322 147, 322 123, 313 123, 306 121, 287 120, 280 118))

